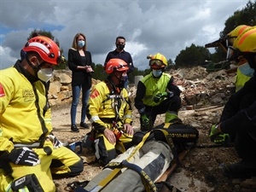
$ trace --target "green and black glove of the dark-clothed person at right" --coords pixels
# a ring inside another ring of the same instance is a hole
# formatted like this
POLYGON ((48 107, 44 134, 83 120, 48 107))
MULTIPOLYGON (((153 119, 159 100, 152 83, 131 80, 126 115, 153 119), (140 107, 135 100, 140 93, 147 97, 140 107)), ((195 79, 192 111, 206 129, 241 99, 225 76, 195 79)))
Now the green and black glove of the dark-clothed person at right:
POLYGON ((222 133, 217 130, 218 125, 212 125, 210 131, 210 139, 213 143, 223 145, 225 147, 230 146, 230 135, 222 133))

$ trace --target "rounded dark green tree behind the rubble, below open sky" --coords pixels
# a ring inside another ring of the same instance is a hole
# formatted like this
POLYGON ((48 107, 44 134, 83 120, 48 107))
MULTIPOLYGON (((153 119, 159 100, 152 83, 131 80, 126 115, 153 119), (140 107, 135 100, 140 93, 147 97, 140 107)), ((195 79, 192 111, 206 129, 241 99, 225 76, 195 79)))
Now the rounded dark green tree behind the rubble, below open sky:
POLYGON ((176 67, 195 67, 203 66, 206 60, 210 60, 211 53, 209 50, 202 46, 195 46, 191 44, 180 51, 175 59, 176 67))

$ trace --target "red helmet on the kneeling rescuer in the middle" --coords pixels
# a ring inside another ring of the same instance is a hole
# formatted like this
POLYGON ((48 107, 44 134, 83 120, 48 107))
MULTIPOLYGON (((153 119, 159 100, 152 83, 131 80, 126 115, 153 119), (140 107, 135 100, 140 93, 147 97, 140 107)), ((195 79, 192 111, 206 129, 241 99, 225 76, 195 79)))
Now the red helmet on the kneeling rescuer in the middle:
POLYGON ((127 63, 121 59, 111 59, 106 65, 106 73, 110 74, 115 71, 125 72, 128 71, 129 67, 127 63))

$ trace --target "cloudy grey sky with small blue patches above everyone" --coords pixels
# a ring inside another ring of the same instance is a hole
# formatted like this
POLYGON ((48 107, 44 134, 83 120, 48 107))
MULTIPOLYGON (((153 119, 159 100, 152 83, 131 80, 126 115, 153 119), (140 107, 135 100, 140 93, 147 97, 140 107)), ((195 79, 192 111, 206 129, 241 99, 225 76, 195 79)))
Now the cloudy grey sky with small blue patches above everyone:
MULTIPOLYGON (((204 46, 219 38, 224 21, 246 0, 0 0, 0 69, 12 66, 34 30, 60 41, 64 56, 77 32, 87 38, 96 64, 103 63, 115 38, 135 67, 148 67, 146 56, 160 52, 175 61, 191 44, 204 46)), ((212 52, 214 49, 210 49, 212 52)))

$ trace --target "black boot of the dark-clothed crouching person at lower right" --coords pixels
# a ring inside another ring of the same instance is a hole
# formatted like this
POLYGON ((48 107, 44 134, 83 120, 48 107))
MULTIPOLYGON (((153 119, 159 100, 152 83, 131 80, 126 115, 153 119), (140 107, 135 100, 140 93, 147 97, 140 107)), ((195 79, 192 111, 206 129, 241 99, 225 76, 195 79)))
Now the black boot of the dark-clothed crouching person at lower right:
POLYGON ((256 161, 241 160, 238 163, 224 165, 224 176, 232 178, 249 178, 256 176, 256 161))

